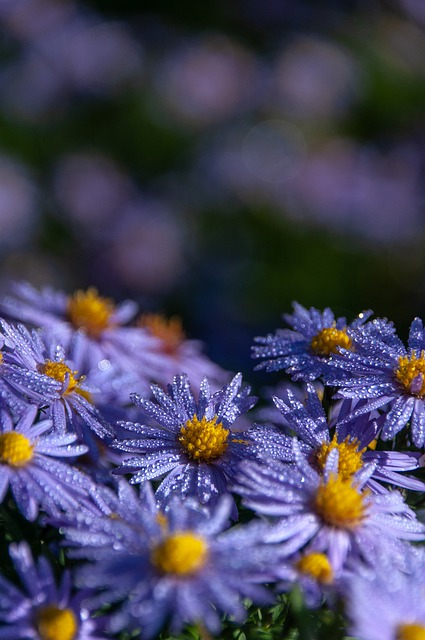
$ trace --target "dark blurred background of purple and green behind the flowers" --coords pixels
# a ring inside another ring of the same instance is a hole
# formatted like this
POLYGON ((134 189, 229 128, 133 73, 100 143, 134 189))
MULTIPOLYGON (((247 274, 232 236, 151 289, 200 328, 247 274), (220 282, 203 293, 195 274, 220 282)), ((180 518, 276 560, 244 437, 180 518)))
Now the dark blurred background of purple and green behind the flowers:
POLYGON ((2 291, 130 297, 248 378, 293 300, 425 316, 424 0, 0 0, 0 25, 2 291))

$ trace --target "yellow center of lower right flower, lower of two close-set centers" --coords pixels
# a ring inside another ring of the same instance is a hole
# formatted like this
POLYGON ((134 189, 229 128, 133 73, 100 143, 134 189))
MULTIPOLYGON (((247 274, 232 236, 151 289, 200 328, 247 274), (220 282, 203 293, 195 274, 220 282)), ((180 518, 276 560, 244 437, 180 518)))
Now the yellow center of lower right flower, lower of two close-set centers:
POLYGON ((363 496, 349 481, 335 474, 319 485, 314 508, 326 524, 338 529, 355 529, 365 515, 363 496))

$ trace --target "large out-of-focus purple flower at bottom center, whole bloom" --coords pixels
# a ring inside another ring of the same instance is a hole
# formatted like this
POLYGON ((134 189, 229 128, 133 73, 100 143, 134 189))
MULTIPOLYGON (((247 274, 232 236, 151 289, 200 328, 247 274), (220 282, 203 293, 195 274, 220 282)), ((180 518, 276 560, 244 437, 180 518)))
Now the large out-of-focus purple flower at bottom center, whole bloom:
POLYGON ((138 506, 133 498, 130 508, 76 512, 62 524, 70 554, 75 548, 90 560, 78 571, 78 584, 99 590, 99 602, 120 603, 110 631, 139 628, 149 639, 168 623, 173 634, 185 624, 215 634, 223 613, 245 619, 244 598, 272 602, 262 584, 273 579, 270 546, 256 526, 228 529, 231 508, 229 496, 208 512, 176 498, 161 513, 146 483, 138 506))

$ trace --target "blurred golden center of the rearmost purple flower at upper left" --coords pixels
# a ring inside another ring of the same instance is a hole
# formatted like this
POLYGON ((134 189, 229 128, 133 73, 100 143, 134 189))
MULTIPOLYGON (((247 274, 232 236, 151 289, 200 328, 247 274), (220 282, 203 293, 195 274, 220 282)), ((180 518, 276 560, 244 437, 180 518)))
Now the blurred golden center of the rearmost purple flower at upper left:
POLYGON ((83 329, 92 338, 110 326, 114 305, 109 298, 102 298, 97 290, 76 291, 68 300, 67 315, 76 329, 83 329))

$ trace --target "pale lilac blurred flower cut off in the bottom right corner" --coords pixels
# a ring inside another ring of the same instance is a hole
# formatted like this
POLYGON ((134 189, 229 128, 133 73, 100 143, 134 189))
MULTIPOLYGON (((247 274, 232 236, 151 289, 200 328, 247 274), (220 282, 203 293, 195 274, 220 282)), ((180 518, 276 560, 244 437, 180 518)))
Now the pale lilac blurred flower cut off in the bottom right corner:
POLYGON ((424 575, 423 553, 411 571, 400 571, 387 561, 377 570, 347 575, 342 594, 350 635, 359 640, 425 638, 424 575))

